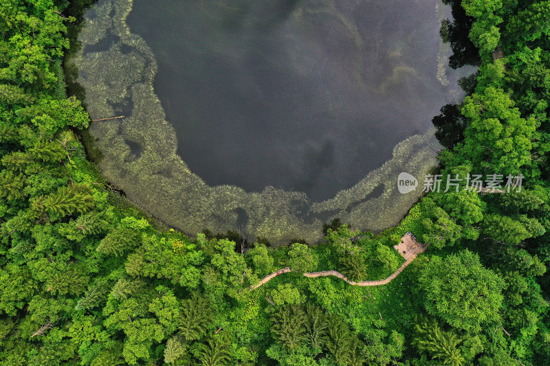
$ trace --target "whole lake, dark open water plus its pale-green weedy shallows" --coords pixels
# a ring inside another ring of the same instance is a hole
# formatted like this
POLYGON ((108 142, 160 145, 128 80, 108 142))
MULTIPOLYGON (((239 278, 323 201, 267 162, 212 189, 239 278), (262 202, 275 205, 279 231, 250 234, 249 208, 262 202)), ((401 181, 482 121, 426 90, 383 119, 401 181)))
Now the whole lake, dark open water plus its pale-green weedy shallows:
MULTIPOLYGON (((459 102, 441 1, 102 0, 74 62, 98 165, 188 233, 315 242, 395 225, 459 102)), ((91 147, 89 147, 90 149, 91 147)))

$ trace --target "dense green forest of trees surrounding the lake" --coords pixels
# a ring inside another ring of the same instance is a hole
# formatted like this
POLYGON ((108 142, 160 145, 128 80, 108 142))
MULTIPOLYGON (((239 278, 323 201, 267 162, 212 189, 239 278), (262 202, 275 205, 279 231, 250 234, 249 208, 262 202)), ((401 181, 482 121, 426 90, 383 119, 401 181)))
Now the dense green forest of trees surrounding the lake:
POLYGON ((169 229, 87 159, 63 65, 92 2, 0 3, 0 365, 550 365, 550 1, 444 1, 451 66, 478 65, 434 118, 459 190, 281 247, 169 229), (522 185, 466 190, 475 174, 522 185), (303 275, 384 279, 409 231, 430 246, 388 284, 303 275))

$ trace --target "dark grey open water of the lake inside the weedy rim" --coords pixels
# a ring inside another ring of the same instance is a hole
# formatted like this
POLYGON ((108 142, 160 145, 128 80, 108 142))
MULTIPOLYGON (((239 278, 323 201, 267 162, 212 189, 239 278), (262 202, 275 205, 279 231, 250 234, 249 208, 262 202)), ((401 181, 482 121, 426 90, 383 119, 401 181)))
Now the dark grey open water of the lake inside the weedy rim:
POLYGON ((127 23, 192 172, 322 201, 456 99, 437 78, 438 4, 134 0, 127 23))

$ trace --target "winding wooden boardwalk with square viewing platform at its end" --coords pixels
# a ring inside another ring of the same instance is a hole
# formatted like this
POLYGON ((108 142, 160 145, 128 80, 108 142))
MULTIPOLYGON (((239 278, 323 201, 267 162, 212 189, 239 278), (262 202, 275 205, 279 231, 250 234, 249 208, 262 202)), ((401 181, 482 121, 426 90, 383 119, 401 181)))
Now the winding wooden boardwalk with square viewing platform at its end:
MULTIPOLYGON (((401 256, 403 256, 403 258, 405 258, 405 263, 401 264, 401 267, 399 267, 397 269, 397 271, 395 271, 394 273, 389 275, 388 278, 379 279, 377 281, 353 282, 353 281, 350 281, 349 279, 347 279, 346 276, 342 275, 342 273, 340 273, 338 271, 334 271, 334 270, 321 271, 321 272, 306 272, 306 273, 304 273, 304 275, 305 275, 305 277, 309 277, 309 278, 334 276, 334 277, 338 277, 338 278, 344 280, 345 282, 347 282, 348 284, 351 284, 352 286, 380 286, 380 285, 385 285, 385 284, 389 284, 392 279, 397 277, 399 275, 399 273, 403 272, 403 270, 406 268, 406 266, 408 266, 410 264, 410 262, 412 262, 413 260, 415 260, 417 258, 419 253, 422 253, 423 251, 426 251, 426 248, 428 248, 428 246, 429 246, 429 244, 422 244, 421 242, 419 242, 417 240, 417 238, 415 238, 415 236, 412 235, 412 233, 410 233, 410 232, 406 233, 401 238, 401 242, 399 242, 399 244, 393 246, 395 248, 395 250, 398 251, 399 254, 401 254, 401 256)), ((287 273, 287 272, 292 272, 292 270, 289 267, 285 267, 285 268, 282 268, 282 269, 280 269, 280 270, 278 270, 274 273, 270 273, 269 275, 263 277, 263 279, 259 282, 259 284, 256 284, 255 286, 252 286, 250 289, 255 290, 256 288, 259 288, 263 284, 269 282, 274 277, 276 277, 278 275, 281 275, 283 273, 287 273)))

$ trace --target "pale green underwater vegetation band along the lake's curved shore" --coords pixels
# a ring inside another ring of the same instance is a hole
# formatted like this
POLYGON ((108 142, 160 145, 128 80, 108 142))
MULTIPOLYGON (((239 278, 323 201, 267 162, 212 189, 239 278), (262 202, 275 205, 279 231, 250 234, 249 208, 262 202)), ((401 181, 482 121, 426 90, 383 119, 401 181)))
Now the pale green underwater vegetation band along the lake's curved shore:
MULTIPOLYGON (((335 12, 328 4, 310 9, 307 16, 335 12)), ((155 56, 126 25, 131 6, 131 0, 100 1, 80 34, 83 47, 74 63, 91 118, 126 116, 94 122, 89 128, 102 152, 100 169, 151 214, 187 233, 225 232, 243 225, 248 238, 286 244, 293 238, 320 240, 322 223, 335 217, 354 229, 382 230, 396 225, 417 201, 421 183, 414 192, 399 194, 397 176, 408 172, 421 181, 437 165, 438 145, 432 131, 397 144, 382 167, 327 201, 314 203, 303 192, 274 187, 248 193, 231 185, 206 185, 177 155, 175 131, 153 89, 155 56), (106 46, 98 49, 98 45, 106 46)), ((353 27, 342 14, 335 16, 342 32, 360 48, 353 27)), ((355 76, 360 74, 359 65, 353 62, 355 76)))

